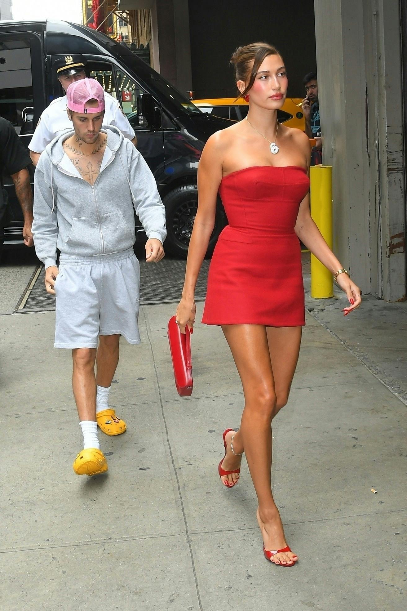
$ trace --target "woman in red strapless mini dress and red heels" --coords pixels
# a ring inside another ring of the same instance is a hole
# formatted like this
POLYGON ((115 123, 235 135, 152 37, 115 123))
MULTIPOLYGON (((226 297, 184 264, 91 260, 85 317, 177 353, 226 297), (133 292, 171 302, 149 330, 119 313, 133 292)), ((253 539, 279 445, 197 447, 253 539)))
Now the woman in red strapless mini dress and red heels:
POLYGON ((298 556, 287 545, 271 491, 271 421, 287 403, 305 324, 299 240, 335 274, 350 302, 345 315, 359 307, 361 291, 310 216, 309 139, 277 123, 288 85, 281 55, 255 43, 237 49, 232 63, 249 112, 246 120, 211 136, 202 152, 177 322, 182 332, 194 324, 194 291, 219 191, 229 225, 211 260, 202 322, 222 328, 241 378, 244 410, 240 429, 224 431, 218 471, 222 483, 233 488, 244 452, 259 500, 265 557, 293 566, 298 556))

